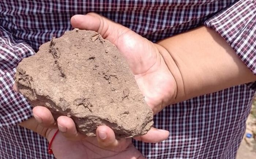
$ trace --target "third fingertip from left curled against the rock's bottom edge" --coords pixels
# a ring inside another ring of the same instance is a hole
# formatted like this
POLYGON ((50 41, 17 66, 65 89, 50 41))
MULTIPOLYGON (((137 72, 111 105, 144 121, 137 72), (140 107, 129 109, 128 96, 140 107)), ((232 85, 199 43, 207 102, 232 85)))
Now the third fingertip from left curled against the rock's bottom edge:
POLYGON ((108 126, 99 126, 96 130, 98 145, 103 148, 118 148, 118 150, 124 150, 131 140, 120 139, 117 140, 114 131, 108 126))

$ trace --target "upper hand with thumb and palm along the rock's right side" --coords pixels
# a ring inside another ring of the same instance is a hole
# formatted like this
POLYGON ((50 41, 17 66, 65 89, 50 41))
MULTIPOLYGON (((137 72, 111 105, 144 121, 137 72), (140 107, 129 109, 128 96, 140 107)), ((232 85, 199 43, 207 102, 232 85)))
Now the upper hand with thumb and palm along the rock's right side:
POLYGON ((174 102, 177 86, 161 55, 167 52, 165 48, 96 13, 75 15, 71 24, 74 28, 96 31, 116 45, 154 114, 174 102))

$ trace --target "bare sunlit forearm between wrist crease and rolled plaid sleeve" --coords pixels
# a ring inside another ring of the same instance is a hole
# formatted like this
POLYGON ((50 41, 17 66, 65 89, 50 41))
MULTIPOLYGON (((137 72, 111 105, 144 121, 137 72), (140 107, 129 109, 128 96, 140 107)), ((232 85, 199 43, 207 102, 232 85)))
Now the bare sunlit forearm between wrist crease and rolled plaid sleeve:
POLYGON ((231 86, 253 82, 256 76, 214 30, 199 27, 158 42, 177 83, 174 103, 231 86))

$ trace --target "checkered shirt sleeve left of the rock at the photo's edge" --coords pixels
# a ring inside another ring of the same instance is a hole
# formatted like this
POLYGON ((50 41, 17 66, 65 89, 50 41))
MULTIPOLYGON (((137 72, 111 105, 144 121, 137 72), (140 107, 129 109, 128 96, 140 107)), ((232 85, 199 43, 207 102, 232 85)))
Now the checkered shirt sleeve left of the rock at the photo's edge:
POLYGON ((17 64, 34 54, 23 40, 17 40, 0 26, 0 128, 11 127, 32 116, 27 100, 12 86, 17 64))

